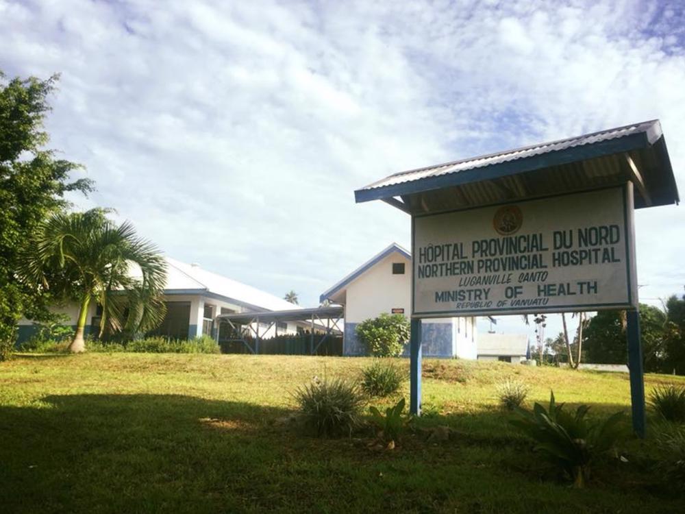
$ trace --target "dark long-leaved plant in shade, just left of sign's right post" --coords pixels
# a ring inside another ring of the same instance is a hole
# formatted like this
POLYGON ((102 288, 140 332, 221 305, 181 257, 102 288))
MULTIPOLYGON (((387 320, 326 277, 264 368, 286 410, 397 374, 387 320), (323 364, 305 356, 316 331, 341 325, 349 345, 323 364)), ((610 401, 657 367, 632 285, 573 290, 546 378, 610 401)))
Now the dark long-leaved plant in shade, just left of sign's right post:
POLYGON ((593 459, 614 449, 627 435, 623 413, 590 423, 586 419, 589 409, 581 405, 575 415, 567 413, 564 404, 557 405, 551 393, 549 409, 538 403, 532 412, 516 408, 517 419, 510 423, 536 441, 536 450, 566 472, 575 487, 583 487, 590 478, 593 459))

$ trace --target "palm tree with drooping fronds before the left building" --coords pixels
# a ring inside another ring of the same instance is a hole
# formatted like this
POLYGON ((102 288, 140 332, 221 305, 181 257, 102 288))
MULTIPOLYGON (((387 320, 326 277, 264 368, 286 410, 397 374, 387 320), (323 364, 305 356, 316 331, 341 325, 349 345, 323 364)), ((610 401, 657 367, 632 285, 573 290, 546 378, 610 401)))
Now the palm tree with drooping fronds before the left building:
POLYGON ((55 214, 43 222, 23 259, 29 284, 79 302, 69 350, 83 352, 90 302, 102 308, 100 335, 129 336, 158 326, 166 314, 166 262, 129 222, 116 225, 106 210, 55 214))

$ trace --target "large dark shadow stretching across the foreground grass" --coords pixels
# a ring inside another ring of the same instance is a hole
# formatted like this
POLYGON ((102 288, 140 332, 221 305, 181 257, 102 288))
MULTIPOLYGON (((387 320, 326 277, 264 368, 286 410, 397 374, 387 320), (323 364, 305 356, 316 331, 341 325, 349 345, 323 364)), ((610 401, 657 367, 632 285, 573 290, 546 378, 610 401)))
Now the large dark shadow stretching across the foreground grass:
POLYGON ((619 500, 645 511, 648 500, 622 488, 582 498, 534 489, 534 475, 506 465, 530 443, 493 438, 506 424, 494 409, 436 417, 458 431, 456 444, 372 454, 275 428, 285 408, 148 394, 42 402, 0 407, 3 512, 575 512, 619 500), (480 436, 478 424, 494 432, 480 436), (564 498, 574 500, 558 509, 564 498))

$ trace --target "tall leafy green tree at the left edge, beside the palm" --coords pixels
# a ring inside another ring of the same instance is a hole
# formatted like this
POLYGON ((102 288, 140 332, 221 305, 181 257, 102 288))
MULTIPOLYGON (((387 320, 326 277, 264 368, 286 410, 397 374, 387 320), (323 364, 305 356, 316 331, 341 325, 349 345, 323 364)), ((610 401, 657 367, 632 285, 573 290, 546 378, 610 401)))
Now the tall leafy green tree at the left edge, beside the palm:
POLYGON ((67 191, 92 191, 90 180, 70 180, 79 164, 45 149, 48 95, 58 76, 7 80, 0 71, 0 360, 10 355, 18 319, 47 321, 50 295, 18 282, 20 254, 38 223, 67 205, 67 191))

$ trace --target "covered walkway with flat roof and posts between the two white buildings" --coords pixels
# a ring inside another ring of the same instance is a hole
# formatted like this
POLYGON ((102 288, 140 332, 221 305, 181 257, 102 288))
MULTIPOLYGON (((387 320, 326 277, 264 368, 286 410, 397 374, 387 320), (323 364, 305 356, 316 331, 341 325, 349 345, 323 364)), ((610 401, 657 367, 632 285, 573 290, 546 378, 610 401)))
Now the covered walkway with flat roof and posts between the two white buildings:
MULTIPOLYGON (((243 343, 253 354, 259 353, 260 339, 266 332, 271 330, 275 323, 286 321, 299 321, 310 325, 310 348, 312 355, 316 353, 321 344, 326 339, 335 334, 341 334, 338 323, 343 319, 343 306, 328 306, 301 308, 292 310, 272 310, 264 313, 238 313, 221 314, 216 321, 226 321, 234 330, 235 337, 229 341, 239 341, 243 343), (266 323, 266 328, 260 330, 260 323, 266 323), (247 341, 245 334, 238 330, 238 325, 245 326, 253 334, 254 347, 247 341), (317 337, 315 331, 319 330, 323 334, 317 337)), ((221 327, 219 323, 218 327, 221 327)), ((219 340, 219 328, 217 328, 216 339, 219 340)))

